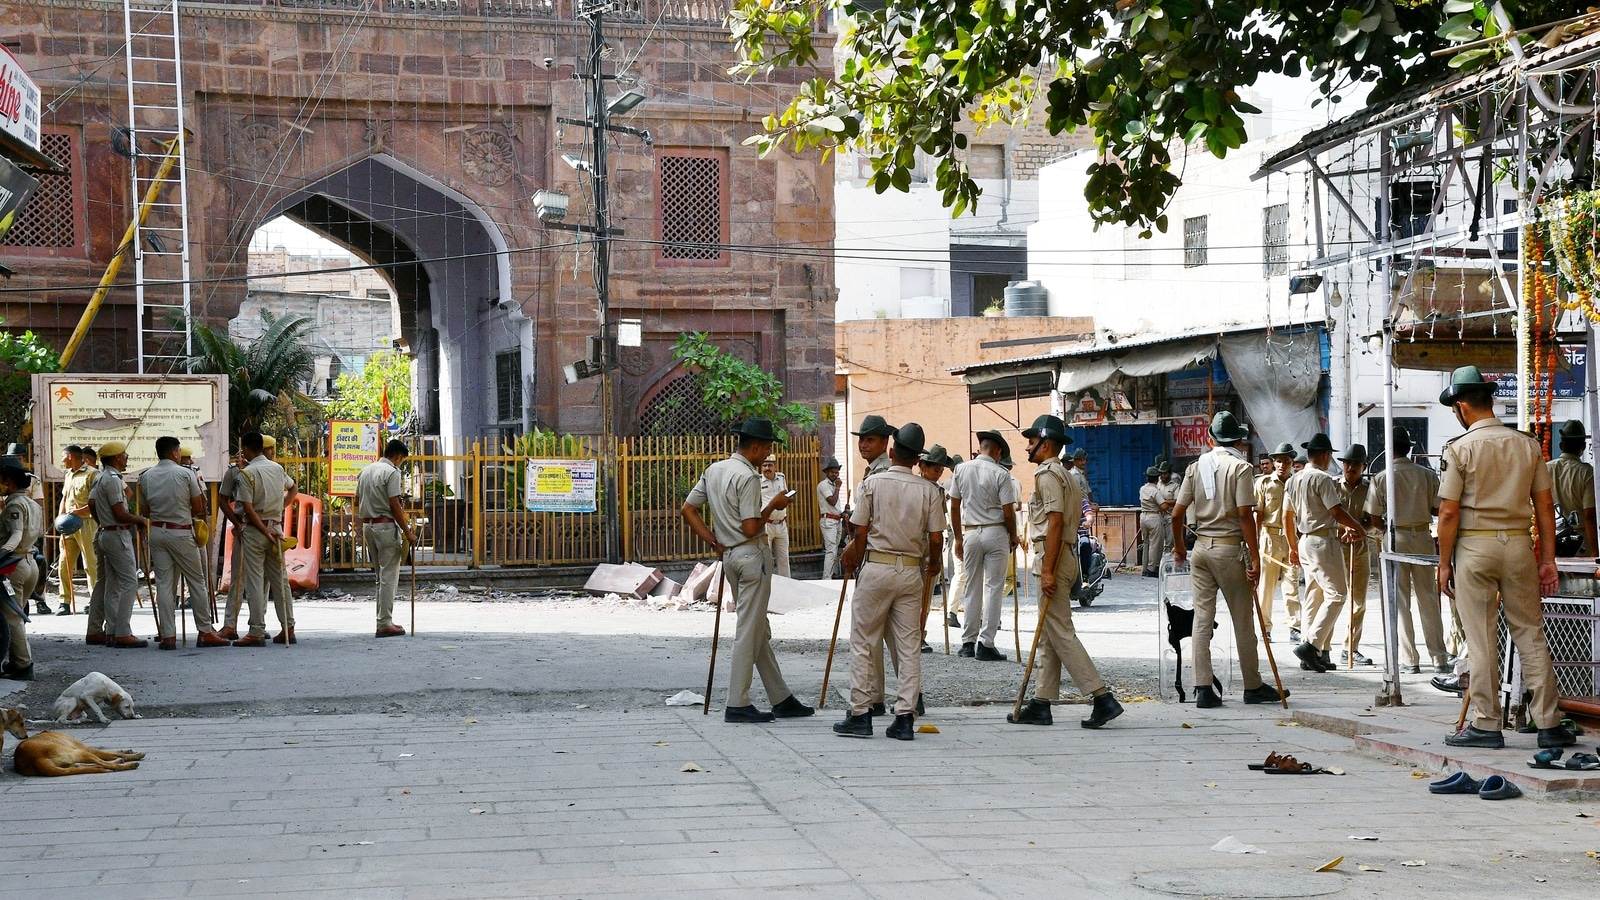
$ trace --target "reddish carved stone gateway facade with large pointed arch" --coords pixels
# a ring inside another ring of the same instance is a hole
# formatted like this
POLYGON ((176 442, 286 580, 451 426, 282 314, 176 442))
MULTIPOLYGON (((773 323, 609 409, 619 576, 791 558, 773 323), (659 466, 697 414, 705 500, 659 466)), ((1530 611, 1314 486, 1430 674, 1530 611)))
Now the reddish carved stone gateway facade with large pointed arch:
MULTIPOLYGON (((418 354, 419 408, 434 412, 440 432, 597 432, 598 380, 562 378, 597 333, 592 251, 544 229, 530 202, 554 187, 571 195, 568 221, 592 215, 587 176, 562 162, 592 152, 586 133, 557 123, 584 115, 574 74, 587 24, 565 0, 445 5, 443 14, 382 0, 366 11, 310 5, 181 6, 197 314, 211 323, 237 315, 251 234, 290 215, 384 266, 418 354), (520 16, 472 14, 482 10, 520 16), (526 408, 501 420, 496 356, 518 349, 526 408)), ((710 331, 774 370, 794 400, 830 402, 832 175, 814 155, 760 160, 742 146, 797 74, 734 82, 726 32, 712 24, 718 10, 694 24, 682 22, 693 18, 682 3, 658 6, 627 5, 638 21, 606 24, 608 74, 621 67, 650 98, 626 123, 654 139, 614 135, 610 155, 611 213, 624 231, 613 243, 613 309, 642 320, 645 343, 619 354, 618 431, 682 375, 670 348, 685 330, 710 331), (661 149, 725 160, 717 264, 662 253, 661 149)), ((5 327, 32 327, 61 346, 131 215, 128 163, 110 141, 126 117, 122 6, 18 0, 0 8, 0 38, 43 88, 46 131, 80 138, 82 247, 0 247, 19 272, 6 287, 38 291, 3 295, 5 327)), ((114 290, 74 368, 131 372, 134 340, 133 291, 114 290)))

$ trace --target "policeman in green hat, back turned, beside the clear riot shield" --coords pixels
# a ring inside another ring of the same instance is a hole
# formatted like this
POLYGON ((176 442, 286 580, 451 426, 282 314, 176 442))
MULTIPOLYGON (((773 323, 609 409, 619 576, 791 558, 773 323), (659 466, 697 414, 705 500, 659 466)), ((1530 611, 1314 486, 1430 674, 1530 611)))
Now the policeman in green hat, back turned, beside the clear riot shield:
MULTIPOLYGON (((1211 452, 1189 464, 1178 488, 1173 520, 1195 512, 1195 549, 1190 564, 1194 585, 1194 666, 1195 706, 1222 705, 1211 682, 1211 633, 1216 626, 1216 594, 1227 601, 1234 621, 1234 645, 1245 681, 1245 703, 1277 703, 1278 690, 1261 681, 1256 655, 1254 591, 1261 580, 1261 544, 1256 530, 1256 469, 1245 456, 1250 429, 1224 410, 1211 418, 1211 452)), ((1173 562, 1189 557, 1184 541, 1174 536, 1173 562)))

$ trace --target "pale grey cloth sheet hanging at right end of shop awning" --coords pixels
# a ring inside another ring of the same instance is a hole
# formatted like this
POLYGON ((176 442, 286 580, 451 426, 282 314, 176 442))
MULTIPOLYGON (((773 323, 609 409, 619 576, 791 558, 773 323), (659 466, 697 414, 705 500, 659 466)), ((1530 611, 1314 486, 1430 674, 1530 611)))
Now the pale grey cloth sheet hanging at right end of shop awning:
POLYGON ((1299 447, 1322 428, 1322 335, 1250 331, 1224 335, 1222 364, 1245 400, 1250 424, 1266 447, 1288 440, 1299 447))

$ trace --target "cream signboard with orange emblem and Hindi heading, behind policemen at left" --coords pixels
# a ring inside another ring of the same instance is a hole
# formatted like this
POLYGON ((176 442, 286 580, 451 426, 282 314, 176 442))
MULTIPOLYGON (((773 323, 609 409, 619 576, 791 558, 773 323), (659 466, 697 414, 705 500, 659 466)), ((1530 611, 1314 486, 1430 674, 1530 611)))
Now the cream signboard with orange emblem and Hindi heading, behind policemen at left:
POLYGON ((227 469, 226 375, 34 376, 34 471, 62 480, 69 444, 128 445, 128 480, 155 464, 155 439, 176 437, 194 450, 200 476, 216 482, 227 469))

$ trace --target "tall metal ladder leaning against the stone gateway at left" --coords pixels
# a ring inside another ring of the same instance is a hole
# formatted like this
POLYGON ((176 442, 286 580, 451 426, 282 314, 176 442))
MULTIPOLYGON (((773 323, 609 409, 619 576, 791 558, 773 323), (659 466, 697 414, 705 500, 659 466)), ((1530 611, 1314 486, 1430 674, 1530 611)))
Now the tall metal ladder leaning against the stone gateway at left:
POLYGON ((123 0, 139 372, 186 370, 190 348, 189 167, 178 0, 123 0), (162 165, 171 155, 173 165, 162 165))

